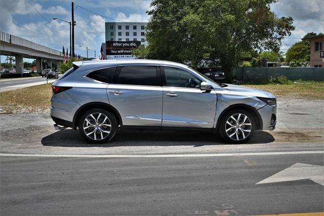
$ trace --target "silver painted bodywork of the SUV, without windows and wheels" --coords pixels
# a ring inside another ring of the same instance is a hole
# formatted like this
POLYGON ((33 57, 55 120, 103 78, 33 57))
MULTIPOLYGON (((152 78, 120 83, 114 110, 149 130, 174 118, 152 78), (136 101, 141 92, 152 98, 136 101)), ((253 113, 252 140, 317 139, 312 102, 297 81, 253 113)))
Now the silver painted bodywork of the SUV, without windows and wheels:
POLYGON ((72 89, 55 94, 51 99, 51 115, 66 121, 73 121, 81 106, 100 102, 114 107, 119 112, 123 125, 215 128, 226 108, 242 104, 254 108, 260 114, 263 121, 261 129, 273 129, 270 121, 271 115, 276 114, 276 105, 269 106, 258 97, 275 98, 274 95, 240 85, 220 87, 183 64, 160 60, 102 60, 73 64, 79 68, 66 77, 63 74, 53 83, 72 89), (210 83, 214 90, 206 92, 190 88, 109 84, 86 77, 89 72, 97 69, 125 65, 181 68, 210 83), (174 97, 174 94, 177 96, 174 97))

